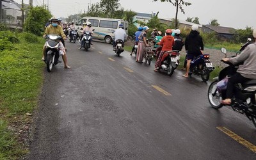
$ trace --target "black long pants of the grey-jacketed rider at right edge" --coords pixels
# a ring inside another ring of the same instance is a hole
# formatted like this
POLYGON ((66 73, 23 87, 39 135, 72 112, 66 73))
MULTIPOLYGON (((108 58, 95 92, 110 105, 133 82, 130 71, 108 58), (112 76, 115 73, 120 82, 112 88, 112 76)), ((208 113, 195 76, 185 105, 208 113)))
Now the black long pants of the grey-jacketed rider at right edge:
POLYGON ((227 92, 226 92, 227 97, 226 98, 231 99, 233 97, 235 84, 244 83, 244 82, 249 81, 249 80, 250 80, 249 78, 243 77, 239 73, 236 73, 233 76, 231 76, 228 79, 227 92))

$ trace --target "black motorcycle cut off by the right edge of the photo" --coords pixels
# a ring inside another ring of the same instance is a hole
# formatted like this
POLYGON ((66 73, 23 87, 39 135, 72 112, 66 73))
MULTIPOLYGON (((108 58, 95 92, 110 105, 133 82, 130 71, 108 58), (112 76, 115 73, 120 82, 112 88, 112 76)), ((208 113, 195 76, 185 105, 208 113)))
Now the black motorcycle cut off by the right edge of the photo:
MULTIPOLYGON (((247 42, 247 43, 250 43, 250 42, 247 42)), ((241 50, 243 50, 244 45, 242 46, 241 50)), ((222 48, 221 52, 223 52, 227 57, 227 54, 226 54, 227 50, 225 48, 222 48)), ((228 62, 224 62, 224 63, 228 64, 229 66, 221 70, 219 76, 214 78, 215 81, 213 81, 210 84, 208 89, 208 100, 211 104, 211 107, 214 109, 222 108, 224 104, 221 104, 221 100, 226 99, 227 88, 226 89, 221 88, 220 90, 220 87, 218 88, 218 85, 220 85, 218 84, 218 82, 224 81, 224 79, 227 78, 228 76, 232 76, 233 74, 235 74, 239 66, 239 64, 232 65, 231 63, 228 63, 228 62)), ((256 101, 256 79, 252 79, 243 84, 240 84, 240 83, 236 84, 234 97, 232 97, 232 103, 227 106, 230 106, 234 111, 237 111, 238 113, 246 115, 249 120, 252 120, 253 125, 255 125, 256 127, 255 101, 256 101)))

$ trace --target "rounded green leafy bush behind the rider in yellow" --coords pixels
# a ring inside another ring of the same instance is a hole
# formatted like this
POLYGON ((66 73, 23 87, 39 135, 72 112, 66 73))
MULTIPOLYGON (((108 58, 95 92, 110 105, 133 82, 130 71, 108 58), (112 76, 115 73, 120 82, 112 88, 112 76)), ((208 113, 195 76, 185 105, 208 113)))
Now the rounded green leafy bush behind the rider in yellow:
POLYGON ((35 35, 41 35, 40 29, 43 29, 45 23, 51 19, 51 12, 46 10, 43 6, 35 6, 30 8, 28 17, 26 18, 24 29, 35 35))

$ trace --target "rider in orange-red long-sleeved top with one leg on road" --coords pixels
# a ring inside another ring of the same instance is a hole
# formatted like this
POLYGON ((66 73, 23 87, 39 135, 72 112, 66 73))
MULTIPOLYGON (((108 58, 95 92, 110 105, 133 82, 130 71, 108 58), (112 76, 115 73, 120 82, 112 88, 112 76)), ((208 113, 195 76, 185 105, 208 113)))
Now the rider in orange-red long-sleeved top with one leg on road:
POLYGON ((162 45, 163 47, 162 47, 162 50, 159 53, 159 56, 156 60, 156 65, 155 65, 155 68, 154 68, 155 72, 158 71, 158 68, 161 65, 161 59, 163 57, 164 52, 172 51, 172 46, 174 45, 174 38, 172 36, 172 29, 166 29, 165 33, 166 33, 166 36, 164 36, 162 38, 162 40, 157 43, 158 45, 162 45))

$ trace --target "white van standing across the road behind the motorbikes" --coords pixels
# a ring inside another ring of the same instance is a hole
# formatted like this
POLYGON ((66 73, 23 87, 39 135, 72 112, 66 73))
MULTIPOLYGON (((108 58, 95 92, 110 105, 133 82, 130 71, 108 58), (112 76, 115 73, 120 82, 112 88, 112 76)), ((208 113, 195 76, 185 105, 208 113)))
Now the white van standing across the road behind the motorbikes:
MULTIPOLYGON (((122 19, 106 19, 100 17, 83 17, 76 23, 76 28, 80 29, 84 22, 91 22, 93 31, 93 38, 99 40, 105 40, 106 43, 110 44, 113 39, 113 32, 118 28, 119 24, 124 25, 126 34, 128 35, 128 22, 122 19)), ((79 32, 79 35, 81 33, 79 32)))

